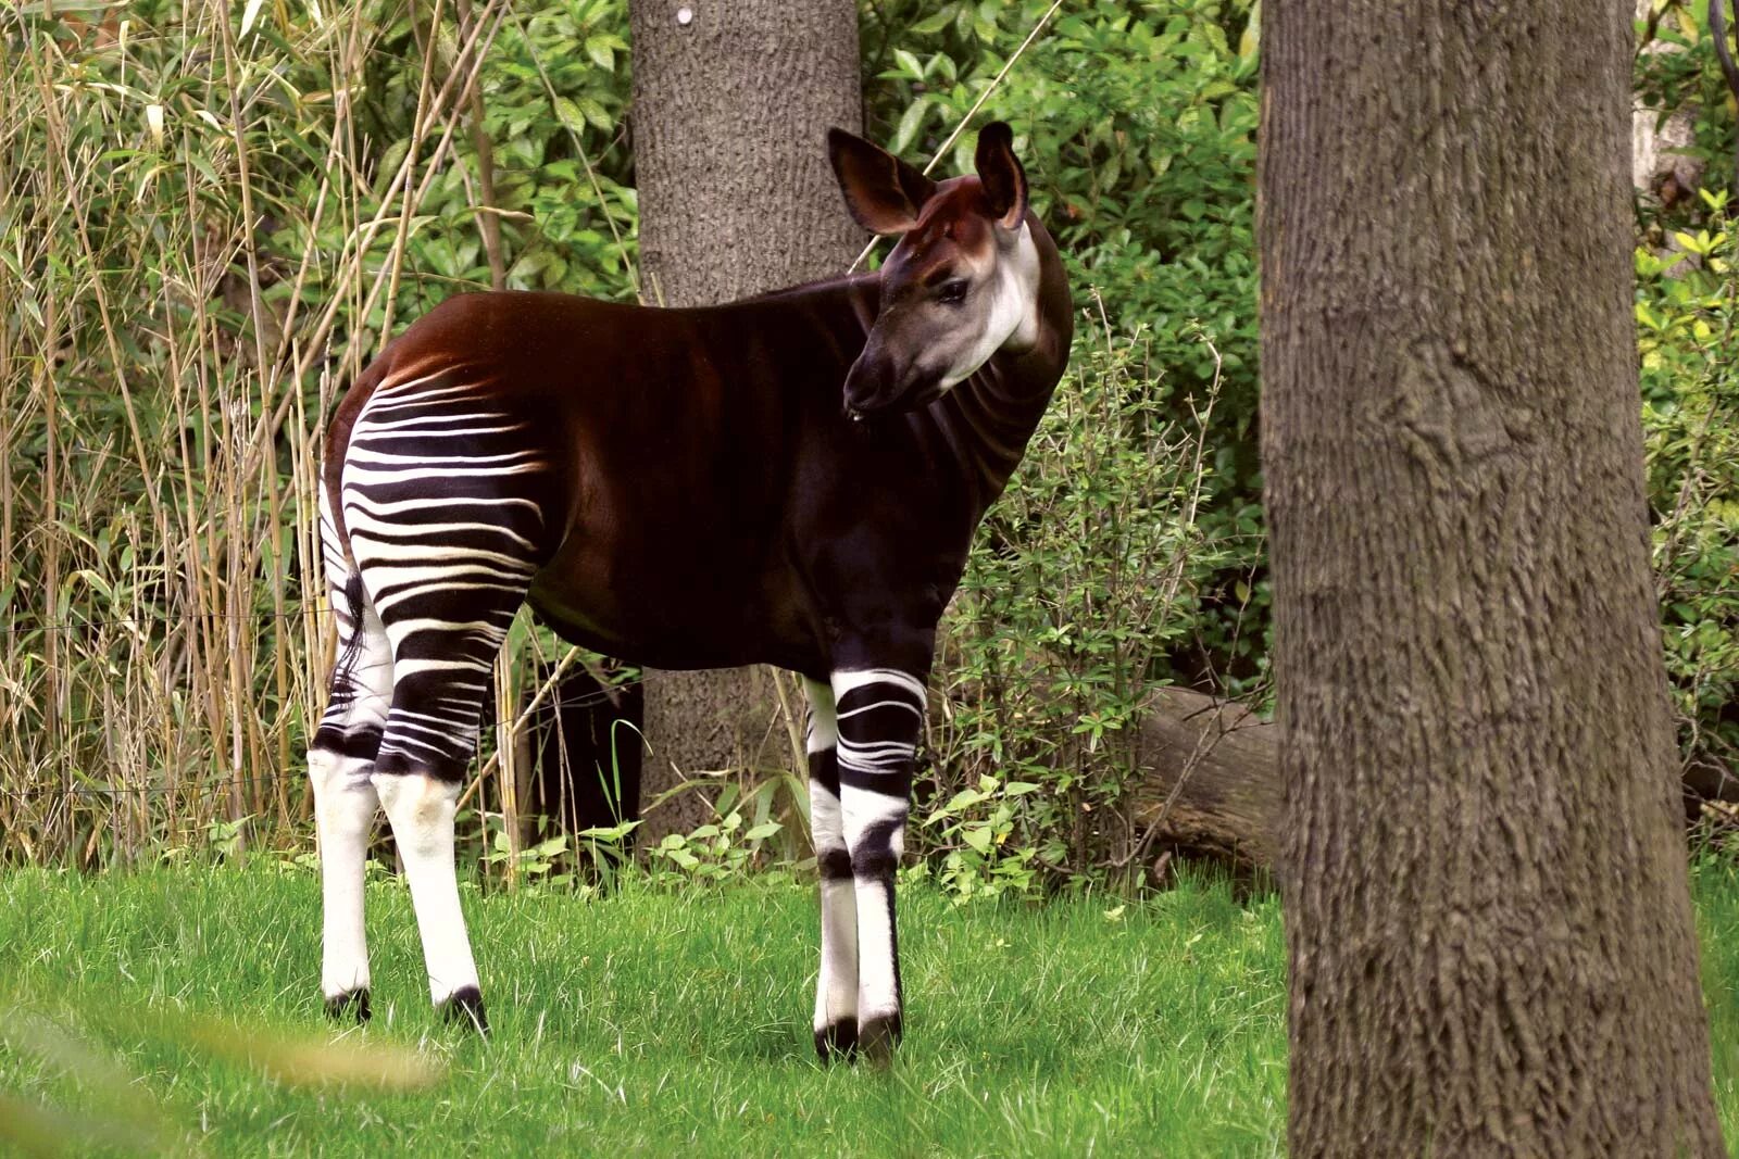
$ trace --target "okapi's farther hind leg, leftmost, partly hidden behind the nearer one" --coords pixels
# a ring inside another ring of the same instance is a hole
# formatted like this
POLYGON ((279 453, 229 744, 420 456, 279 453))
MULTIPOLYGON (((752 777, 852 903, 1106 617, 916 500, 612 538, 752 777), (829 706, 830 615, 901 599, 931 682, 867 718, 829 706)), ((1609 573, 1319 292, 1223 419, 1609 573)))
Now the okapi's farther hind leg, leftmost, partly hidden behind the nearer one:
POLYGON ((327 584, 337 620, 339 653, 320 728, 308 745, 320 834, 322 964, 320 990, 334 1017, 369 1017, 369 944, 362 883, 369 836, 379 813, 374 758, 393 695, 393 653, 379 617, 348 572, 344 549, 322 488, 327 584))

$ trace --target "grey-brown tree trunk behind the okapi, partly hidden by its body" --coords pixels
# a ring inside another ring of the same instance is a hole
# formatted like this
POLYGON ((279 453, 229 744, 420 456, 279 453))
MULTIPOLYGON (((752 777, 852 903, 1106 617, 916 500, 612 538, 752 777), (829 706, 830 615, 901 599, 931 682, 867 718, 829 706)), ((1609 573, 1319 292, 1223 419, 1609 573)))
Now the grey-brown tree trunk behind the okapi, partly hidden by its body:
MULTIPOLYGON (((633 0, 642 295, 706 306, 843 273, 857 233, 826 132, 861 125, 852 0, 633 0)), ((790 765, 770 671, 647 681, 645 792, 685 777, 790 765)), ((710 794, 647 815, 685 831, 710 794)))

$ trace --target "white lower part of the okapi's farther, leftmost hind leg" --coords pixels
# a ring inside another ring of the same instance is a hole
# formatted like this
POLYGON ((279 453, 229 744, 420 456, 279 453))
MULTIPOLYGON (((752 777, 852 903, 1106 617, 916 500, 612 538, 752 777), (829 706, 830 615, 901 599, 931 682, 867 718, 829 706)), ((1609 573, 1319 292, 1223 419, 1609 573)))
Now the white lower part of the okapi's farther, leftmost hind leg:
POLYGON ((370 761, 313 749, 308 772, 315 787, 320 834, 323 952, 320 990, 343 997, 369 989, 369 944, 362 921, 363 862, 379 799, 369 782, 370 761))

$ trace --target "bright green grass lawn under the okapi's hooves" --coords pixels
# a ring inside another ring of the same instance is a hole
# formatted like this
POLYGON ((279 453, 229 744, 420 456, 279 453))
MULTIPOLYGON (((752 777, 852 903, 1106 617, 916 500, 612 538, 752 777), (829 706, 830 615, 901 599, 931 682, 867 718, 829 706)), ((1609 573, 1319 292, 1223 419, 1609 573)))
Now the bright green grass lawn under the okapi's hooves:
MULTIPOLYGON (((1699 865, 1697 895, 1732 1138, 1739 874, 1699 865)), ((163 1150, 207 1156, 1282 1150, 1280 912, 1223 886, 1043 909, 906 890, 911 1034, 885 1074, 812 1062, 807 888, 473 897, 489 1043, 435 1025, 403 890, 369 902, 376 1020, 344 1041, 396 1051, 360 1063, 396 1089, 259 1069, 358 1065, 303 1051, 323 1039, 311 874, 0 876, 0 1119, 71 1112, 47 1123, 71 1154, 153 1116, 163 1150)))

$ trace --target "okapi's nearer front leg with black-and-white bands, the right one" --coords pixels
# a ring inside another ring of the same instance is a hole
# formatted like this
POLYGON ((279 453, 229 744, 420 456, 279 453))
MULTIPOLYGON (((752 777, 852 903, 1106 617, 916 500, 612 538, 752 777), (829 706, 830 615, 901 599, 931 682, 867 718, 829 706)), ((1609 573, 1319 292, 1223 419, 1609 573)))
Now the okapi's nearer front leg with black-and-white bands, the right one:
POLYGON ((857 1048, 878 1062, 901 1034, 894 874, 906 850, 923 679, 899 669, 833 674, 840 820, 857 905, 857 1048))

